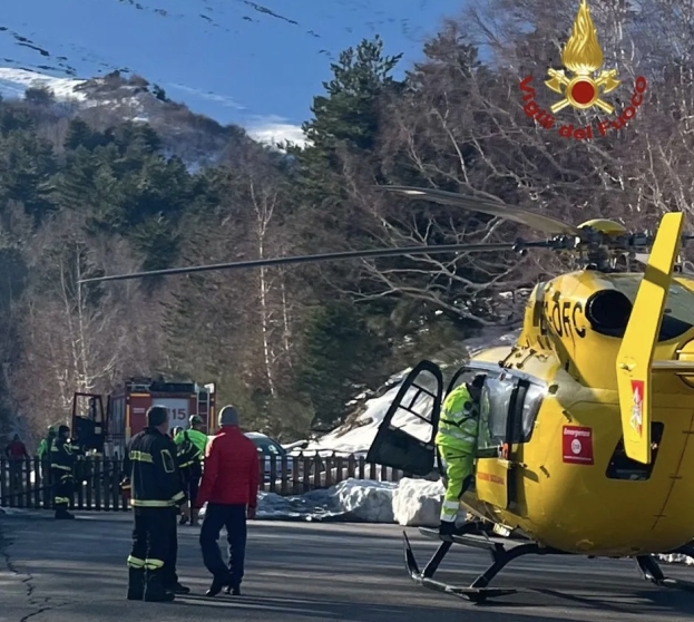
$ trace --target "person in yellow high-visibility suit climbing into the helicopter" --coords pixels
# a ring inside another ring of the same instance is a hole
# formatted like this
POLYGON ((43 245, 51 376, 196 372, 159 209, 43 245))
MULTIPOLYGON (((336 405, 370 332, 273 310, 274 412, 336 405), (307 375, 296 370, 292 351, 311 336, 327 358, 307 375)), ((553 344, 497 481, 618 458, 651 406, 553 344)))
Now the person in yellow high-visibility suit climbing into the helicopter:
POLYGON ((456 517, 460 497, 475 476, 475 458, 479 434, 479 411, 485 376, 456 387, 443 401, 436 445, 446 465, 446 494, 441 505, 439 533, 457 532, 456 517))

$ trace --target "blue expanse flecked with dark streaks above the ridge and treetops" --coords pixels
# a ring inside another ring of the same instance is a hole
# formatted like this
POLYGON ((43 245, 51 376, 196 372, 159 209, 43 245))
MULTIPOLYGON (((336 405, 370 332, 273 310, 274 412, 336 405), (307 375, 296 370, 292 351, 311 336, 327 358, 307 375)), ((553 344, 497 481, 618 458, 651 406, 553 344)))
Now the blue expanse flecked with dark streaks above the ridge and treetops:
POLYGON ((462 3, 21 0, 3 3, 0 66, 76 78, 127 68, 221 123, 291 133, 341 50, 378 32, 407 66, 462 3))

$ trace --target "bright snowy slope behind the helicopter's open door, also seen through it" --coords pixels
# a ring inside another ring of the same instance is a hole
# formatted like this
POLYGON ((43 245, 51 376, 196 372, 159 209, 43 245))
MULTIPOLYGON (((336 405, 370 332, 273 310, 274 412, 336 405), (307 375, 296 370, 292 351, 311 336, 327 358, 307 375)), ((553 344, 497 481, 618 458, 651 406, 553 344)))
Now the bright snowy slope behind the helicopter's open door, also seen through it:
MULTIPOLYGON (((461 343, 461 352, 467 351, 467 356, 471 356, 483 348, 511 344, 516 341, 518 334, 519 330, 512 332, 485 331, 480 337, 468 339, 461 343)), ((373 399, 366 400, 363 408, 355 417, 350 417, 343 426, 315 441, 309 443, 303 451, 336 451, 345 454, 361 454, 368 451, 381 421, 383 421, 390 405, 400 390, 400 386, 409 371, 410 369, 405 369, 390 378, 378 391, 380 395, 373 399)), ((416 395, 417 389, 411 388, 408 397, 403 401, 409 404, 408 400, 413 400, 416 395)), ((424 414, 430 406, 431 398, 422 393, 411 408, 416 412, 424 414)), ((402 409, 395 414, 392 422, 394 426, 404 429, 412 436, 422 439, 428 439, 431 431, 431 428, 421 419, 402 409)))

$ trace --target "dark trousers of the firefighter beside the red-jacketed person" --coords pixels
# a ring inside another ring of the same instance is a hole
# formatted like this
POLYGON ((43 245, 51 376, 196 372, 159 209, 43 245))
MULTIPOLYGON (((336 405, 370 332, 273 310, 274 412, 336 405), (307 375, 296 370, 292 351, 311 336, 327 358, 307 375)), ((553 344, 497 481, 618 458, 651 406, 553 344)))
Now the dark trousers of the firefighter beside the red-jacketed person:
MULTIPOLYGON (((175 508, 134 507, 133 518, 133 548, 128 566, 150 572, 162 571, 157 574, 162 576, 162 583, 167 584, 166 573, 170 567, 172 544, 176 537, 175 508)), ((174 568, 175 556, 174 552, 174 568)))

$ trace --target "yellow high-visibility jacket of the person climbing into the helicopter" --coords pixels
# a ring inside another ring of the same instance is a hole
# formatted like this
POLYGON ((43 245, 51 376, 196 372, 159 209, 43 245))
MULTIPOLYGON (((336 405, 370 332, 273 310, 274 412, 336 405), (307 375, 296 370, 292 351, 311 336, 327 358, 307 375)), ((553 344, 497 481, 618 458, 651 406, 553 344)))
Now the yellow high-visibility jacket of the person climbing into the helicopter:
POLYGON ((458 449, 461 454, 476 454, 479 430, 479 406, 467 386, 456 387, 443 401, 436 444, 458 449))

